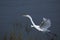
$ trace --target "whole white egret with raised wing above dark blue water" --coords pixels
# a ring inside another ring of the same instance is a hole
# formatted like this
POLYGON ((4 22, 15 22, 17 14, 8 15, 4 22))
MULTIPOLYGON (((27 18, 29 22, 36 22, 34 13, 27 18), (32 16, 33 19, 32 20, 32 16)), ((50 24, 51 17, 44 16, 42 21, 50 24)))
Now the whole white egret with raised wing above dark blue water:
POLYGON ((50 30, 48 30, 48 28, 51 27, 51 21, 50 21, 50 19, 43 18, 43 21, 41 22, 41 24, 40 25, 36 25, 33 22, 32 17, 30 15, 23 15, 23 16, 30 19, 30 21, 32 23, 31 27, 34 27, 38 31, 42 31, 42 32, 48 31, 48 32, 50 32, 50 30))

